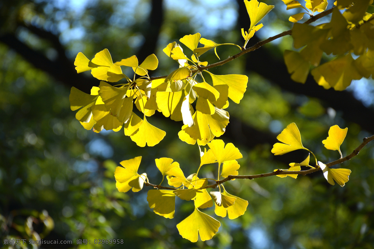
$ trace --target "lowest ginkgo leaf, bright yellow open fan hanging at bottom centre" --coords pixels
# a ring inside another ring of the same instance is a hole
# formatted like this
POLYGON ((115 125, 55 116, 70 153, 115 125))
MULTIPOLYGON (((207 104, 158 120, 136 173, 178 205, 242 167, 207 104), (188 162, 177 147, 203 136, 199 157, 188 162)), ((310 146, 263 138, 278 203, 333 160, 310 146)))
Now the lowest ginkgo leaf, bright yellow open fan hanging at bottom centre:
POLYGON ((183 238, 196 242, 199 235, 202 241, 212 239, 220 225, 219 221, 195 208, 190 216, 177 225, 177 228, 183 238))

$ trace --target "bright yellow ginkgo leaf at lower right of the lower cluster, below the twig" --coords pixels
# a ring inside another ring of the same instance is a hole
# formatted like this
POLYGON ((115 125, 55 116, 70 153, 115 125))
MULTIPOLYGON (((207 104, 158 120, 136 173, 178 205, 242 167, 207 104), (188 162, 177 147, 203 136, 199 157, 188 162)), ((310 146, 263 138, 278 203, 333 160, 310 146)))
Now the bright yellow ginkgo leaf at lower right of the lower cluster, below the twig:
POLYGON ((223 196, 236 198, 236 200, 234 204, 232 206, 229 206, 228 208, 225 208, 224 206, 215 205, 214 212, 216 215, 221 216, 221 217, 226 217, 226 214, 229 214, 229 219, 233 220, 245 213, 245 211, 247 210, 247 206, 248 206, 247 200, 243 200, 237 196, 233 196, 232 194, 227 193, 224 187, 223 187, 223 192, 221 194, 223 196))

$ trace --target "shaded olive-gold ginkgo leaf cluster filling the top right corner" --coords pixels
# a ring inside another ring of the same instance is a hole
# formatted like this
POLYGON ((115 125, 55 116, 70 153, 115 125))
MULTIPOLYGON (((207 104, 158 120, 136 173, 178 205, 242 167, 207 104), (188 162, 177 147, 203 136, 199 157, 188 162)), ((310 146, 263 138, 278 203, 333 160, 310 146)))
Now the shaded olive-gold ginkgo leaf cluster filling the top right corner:
MULTIPOLYGON (((309 15, 327 7, 327 0, 307 0, 306 7, 298 1, 283 2, 287 9, 303 8, 309 15)), ((301 50, 286 50, 284 53, 291 79, 305 83, 311 66, 315 67, 311 71, 315 81, 325 89, 333 87, 342 91, 352 80, 370 78, 374 72, 374 19, 373 13, 367 11, 372 3, 373 0, 337 1, 330 22, 317 26, 295 23, 292 28, 294 47, 301 50), (339 9, 344 9, 344 12, 339 9), (320 65, 324 53, 335 57, 320 65), (356 56, 352 57, 351 53, 356 56)), ((290 21, 297 22, 303 15, 293 15, 290 21)))

